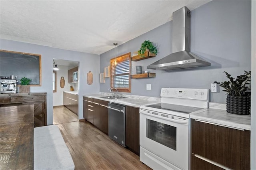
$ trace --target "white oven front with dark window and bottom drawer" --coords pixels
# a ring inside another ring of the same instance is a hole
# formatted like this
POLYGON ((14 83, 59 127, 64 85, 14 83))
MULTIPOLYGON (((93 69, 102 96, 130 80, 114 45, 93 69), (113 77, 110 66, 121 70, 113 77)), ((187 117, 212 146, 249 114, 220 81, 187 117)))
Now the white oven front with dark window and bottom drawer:
POLYGON ((189 120, 176 118, 140 109, 140 159, 153 169, 188 169, 189 120))

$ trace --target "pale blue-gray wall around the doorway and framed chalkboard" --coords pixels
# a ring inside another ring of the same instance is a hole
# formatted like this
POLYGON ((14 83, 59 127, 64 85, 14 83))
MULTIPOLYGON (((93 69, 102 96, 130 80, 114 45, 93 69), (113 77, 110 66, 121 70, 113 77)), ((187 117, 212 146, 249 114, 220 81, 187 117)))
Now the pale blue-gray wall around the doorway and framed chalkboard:
MULTIPOLYGON (((52 59, 65 59, 79 62, 79 110, 78 119, 83 119, 83 100, 84 94, 98 93, 99 86, 99 67, 100 56, 89 53, 81 53, 76 51, 69 51, 64 49, 46 47, 42 45, 35 45, 30 43, 22 43, 10 40, 0 39, 0 49, 8 51, 18 51, 25 53, 41 54, 42 62, 42 86, 30 87, 31 92, 47 92, 47 124, 53 123, 53 92, 52 92, 52 59), (93 73, 93 84, 86 83, 88 71, 93 73)), ((57 63, 58 64, 58 63, 57 63)), ((11 67, 11 65, 10 65, 11 67)), ((15 69, 15 68, 14 68, 15 69)), ((28 69, 28 71, 30 71, 28 69)), ((58 71, 57 71, 58 74, 58 71)), ((7 75, 8 76, 8 75, 7 75)), ((68 80, 66 79, 66 82, 68 80)), ((58 83, 58 82, 57 82, 58 83)), ((59 85, 59 83, 57 84, 59 85)), ((59 98, 62 100, 62 98, 59 98)))

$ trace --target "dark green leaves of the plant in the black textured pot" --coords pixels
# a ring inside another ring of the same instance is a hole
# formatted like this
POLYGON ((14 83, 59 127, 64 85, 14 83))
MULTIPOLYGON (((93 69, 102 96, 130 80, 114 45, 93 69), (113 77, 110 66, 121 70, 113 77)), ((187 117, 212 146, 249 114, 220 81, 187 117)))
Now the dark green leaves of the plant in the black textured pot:
MULTIPOLYGON (((226 71, 224 71, 226 77, 229 81, 224 81, 220 84, 220 87, 223 87, 228 95, 230 96, 250 96, 251 92, 251 71, 244 71, 243 75, 237 76, 236 79, 231 77, 226 71)), ((218 83, 214 81, 214 83, 218 83)))

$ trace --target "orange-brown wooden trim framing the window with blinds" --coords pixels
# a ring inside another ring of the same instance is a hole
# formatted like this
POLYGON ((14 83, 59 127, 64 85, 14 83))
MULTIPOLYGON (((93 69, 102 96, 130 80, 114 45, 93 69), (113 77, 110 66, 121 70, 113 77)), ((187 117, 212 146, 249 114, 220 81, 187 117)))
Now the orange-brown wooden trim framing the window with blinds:
POLYGON ((131 92, 131 52, 129 53, 126 53, 126 54, 123 54, 123 55, 120 55, 118 57, 114 57, 112 59, 110 59, 110 87, 111 88, 114 88, 112 87, 112 80, 113 80, 113 75, 112 75, 112 64, 114 63, 115 59, 118 62, 122 62, 122 61, 125 61, 127 60, 126 58, 129 58, 129 87, 128 88, 117 88, 118 89, 118 92, 128 92, 130 93, 131 92))

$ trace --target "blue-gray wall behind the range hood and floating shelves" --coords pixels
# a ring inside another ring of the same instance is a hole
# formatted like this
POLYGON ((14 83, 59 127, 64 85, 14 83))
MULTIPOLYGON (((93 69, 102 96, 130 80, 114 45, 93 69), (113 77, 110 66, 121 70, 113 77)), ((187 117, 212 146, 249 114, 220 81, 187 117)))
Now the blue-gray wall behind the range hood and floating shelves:
MULTIPOLYGON (((191 12, 191 51, 211 62, 210 67, 175 71, 150 70, 155 78, 131 79, 132 95, 160 97, 161 87, 208 88, 213 81, 226 81, 223 71, 233 76, 251 69, 251 1, 213 0, 191 12), (151 84, 152 90, 146 90, 151 84)), ((172 52, 172 21, 151 30, 117 47, 117 55, 137 51, 144 40, 150 40, 158 47, 156 57, 132 61, 135 65, 146 66, 172 52)), ((110 65, 115 49, 100 55, 100 72, 110 65)), ((110 78, 100 83, 100 91, 107 92, 110 78)), ((220 90, 222 90, 220 88, 220 90)), ((225 103, 223 91, 211 93, 210 101, 225 103)))

